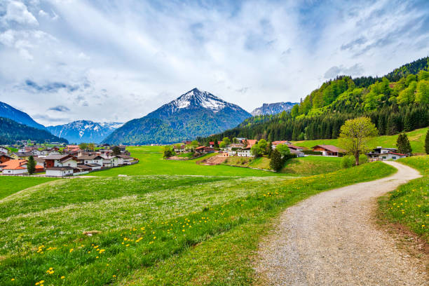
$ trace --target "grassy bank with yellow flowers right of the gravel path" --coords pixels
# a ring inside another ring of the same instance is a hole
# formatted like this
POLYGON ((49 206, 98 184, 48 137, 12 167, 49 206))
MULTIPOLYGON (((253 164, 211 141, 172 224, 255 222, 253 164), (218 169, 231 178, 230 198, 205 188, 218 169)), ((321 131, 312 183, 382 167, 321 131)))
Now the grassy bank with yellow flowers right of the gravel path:
POLYGON ((380 198, 381 217, 407 226, 429 242, 429 156, 402 158, 398 162, 415 168, 423 177, 380 198))

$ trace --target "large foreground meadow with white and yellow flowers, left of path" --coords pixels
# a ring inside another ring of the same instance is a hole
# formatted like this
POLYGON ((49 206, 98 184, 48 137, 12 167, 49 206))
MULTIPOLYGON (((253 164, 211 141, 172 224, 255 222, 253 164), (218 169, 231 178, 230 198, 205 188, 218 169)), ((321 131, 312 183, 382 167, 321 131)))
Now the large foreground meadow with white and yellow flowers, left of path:
POLYGON ((301 179, 135 176, 34 186, 0 202, 0 285, 248 284, 249 255, 271 217, 393 171, 371 163, 301 179), (90 230, 102 233, 83 236, 90 230))

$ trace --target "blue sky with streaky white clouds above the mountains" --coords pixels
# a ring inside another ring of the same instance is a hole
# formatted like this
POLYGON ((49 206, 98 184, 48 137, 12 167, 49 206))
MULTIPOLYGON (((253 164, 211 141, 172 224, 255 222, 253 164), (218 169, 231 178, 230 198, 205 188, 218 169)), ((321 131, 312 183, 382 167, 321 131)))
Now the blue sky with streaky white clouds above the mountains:
POLYGON ((126 122, 192 88, 247 111, 429 55, 429 1, 0 0, 0 101, 126 122))

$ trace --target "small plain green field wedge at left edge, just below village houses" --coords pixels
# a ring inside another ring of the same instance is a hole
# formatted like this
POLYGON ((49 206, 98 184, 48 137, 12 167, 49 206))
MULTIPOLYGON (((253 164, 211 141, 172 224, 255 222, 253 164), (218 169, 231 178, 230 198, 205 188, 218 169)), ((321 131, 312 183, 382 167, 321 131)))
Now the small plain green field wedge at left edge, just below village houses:
POLYGON ((43 177, 0 177, 0 200, 10 196, 12 193, 27 189, 30 186, 46 183, 55 180, 54 178, 43 177))

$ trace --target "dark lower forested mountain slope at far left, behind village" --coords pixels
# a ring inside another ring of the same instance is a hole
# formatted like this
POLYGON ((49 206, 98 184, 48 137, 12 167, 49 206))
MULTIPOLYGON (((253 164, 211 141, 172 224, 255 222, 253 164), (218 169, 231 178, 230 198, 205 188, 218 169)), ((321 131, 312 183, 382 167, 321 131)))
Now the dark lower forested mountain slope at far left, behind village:
POLYGON ((34 140, 36 142, 64 142, 67 139, 56 137, 47 130, 30 127, 11 120, 10 118, 0 117, 0 144, 15 144, 17 140, 34 140))

